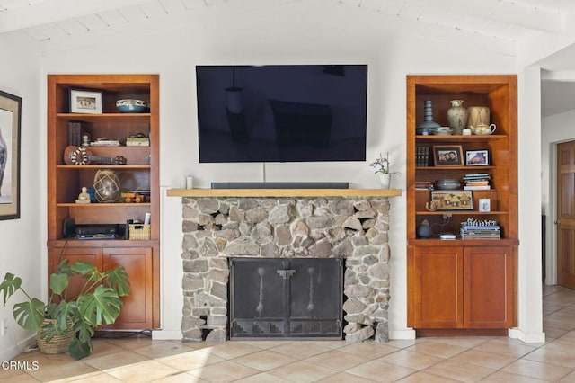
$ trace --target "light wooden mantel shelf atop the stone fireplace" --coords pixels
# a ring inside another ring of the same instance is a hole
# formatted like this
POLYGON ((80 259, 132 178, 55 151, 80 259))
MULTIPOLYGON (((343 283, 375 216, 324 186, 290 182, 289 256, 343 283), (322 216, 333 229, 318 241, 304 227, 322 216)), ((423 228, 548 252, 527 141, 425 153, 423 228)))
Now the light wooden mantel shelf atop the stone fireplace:
POLYGON ((398 197, 401 189, 169 189, 168 197, 398 197))

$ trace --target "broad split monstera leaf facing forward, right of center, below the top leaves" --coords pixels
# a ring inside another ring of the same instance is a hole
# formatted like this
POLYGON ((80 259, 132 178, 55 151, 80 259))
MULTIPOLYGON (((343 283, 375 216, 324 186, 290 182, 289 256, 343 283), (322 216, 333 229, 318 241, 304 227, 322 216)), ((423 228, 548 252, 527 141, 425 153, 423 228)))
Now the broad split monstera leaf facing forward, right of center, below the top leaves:
POLYGON ((119 316, 123 301, 110 287, 98 286, 92 294, 81 294, 78 311, 88 325, 111 325, 119 316))

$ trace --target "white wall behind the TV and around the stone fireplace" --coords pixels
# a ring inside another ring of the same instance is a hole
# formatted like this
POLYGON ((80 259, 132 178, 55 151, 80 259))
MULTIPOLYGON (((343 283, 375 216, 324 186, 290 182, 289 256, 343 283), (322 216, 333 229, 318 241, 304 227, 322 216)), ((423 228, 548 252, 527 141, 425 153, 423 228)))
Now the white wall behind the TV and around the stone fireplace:
MULTIPOLYGON (((258 164, 199 164, 195 114, 196 64, 367 63, 369 65, 366 163, 268 164, 267 181, 348 181, 378 185, 368 163, 390 152, 392 167, 405 174, 405 76, 408 74, 517 73, 516 58, 476 47, 459 37, 351 7, 305 3, 282 7, 235 4, 181 15, 181 22, 146 25, 109 35, 49 41, 43 73, 159 73, 161 184, 179 188, 184 175, 208 187, 213 181, 261 181, 258 164), (419 31, 419 32, 418 32, 419 31)), ((319 3, 319 2, 318 2, 319 3)), ((44 126, 45 123, 42 124, 44 126)), ((41 136, 45 146, 45 137, 41 136)), ((405 188, 405 177, 392 187, 405 188)), ((181 337, 181 200, 164 198, 162 211, 162 322, 181 337)), ((42 209, 45 209, 42 206, 42 209)), ((392 200, 393 338, 412 336, 406 327, 405 197, 392 200)))

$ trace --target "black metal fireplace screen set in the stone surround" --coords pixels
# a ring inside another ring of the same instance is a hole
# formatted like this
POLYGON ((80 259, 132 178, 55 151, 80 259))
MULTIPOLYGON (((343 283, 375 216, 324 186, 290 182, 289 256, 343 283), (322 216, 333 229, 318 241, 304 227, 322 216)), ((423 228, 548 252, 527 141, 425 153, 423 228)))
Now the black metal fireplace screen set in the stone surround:
POLYGON ((230 338, 341 339, 341 259, 230 258, 230 338))

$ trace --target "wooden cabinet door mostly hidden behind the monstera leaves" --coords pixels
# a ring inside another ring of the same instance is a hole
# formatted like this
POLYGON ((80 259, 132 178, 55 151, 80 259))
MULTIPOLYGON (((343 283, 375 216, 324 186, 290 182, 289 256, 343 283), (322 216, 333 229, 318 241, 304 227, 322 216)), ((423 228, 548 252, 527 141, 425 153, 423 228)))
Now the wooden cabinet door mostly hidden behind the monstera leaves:
MULTIPOLYGON (((69 260, 70 264, 76 261, 84 261, 93 263, 98 269, 102 268, 102 249, 97 247, 67 247, 64 253, 61 254, 62 248, 49 249, 49 273, 57 271, 57 265, 60 261, 69 260), (60 254, 62 255, 60 258, 60 254)), ((84 288, 86 280, 79 275, 76 275, 69 281, 69 287, 66 290, 66 300, 75 299, 75 297, 84 288)))

